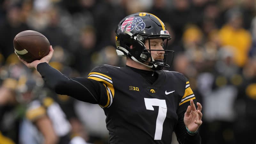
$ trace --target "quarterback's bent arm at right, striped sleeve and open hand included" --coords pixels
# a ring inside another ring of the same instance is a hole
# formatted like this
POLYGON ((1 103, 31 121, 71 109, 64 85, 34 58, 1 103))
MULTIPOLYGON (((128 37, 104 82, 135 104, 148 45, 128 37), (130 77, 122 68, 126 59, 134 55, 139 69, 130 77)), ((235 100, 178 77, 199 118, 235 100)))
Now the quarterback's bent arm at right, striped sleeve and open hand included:
POLYGON ((175 133, 181 144, 200 144, 201 137, 198 128, 202 124, 202 105, 196 103, 196 97, 190 88, 188 79, 183 75, 182 77, 185 81, 185 90, 177 110, 178 124, 175 133))

